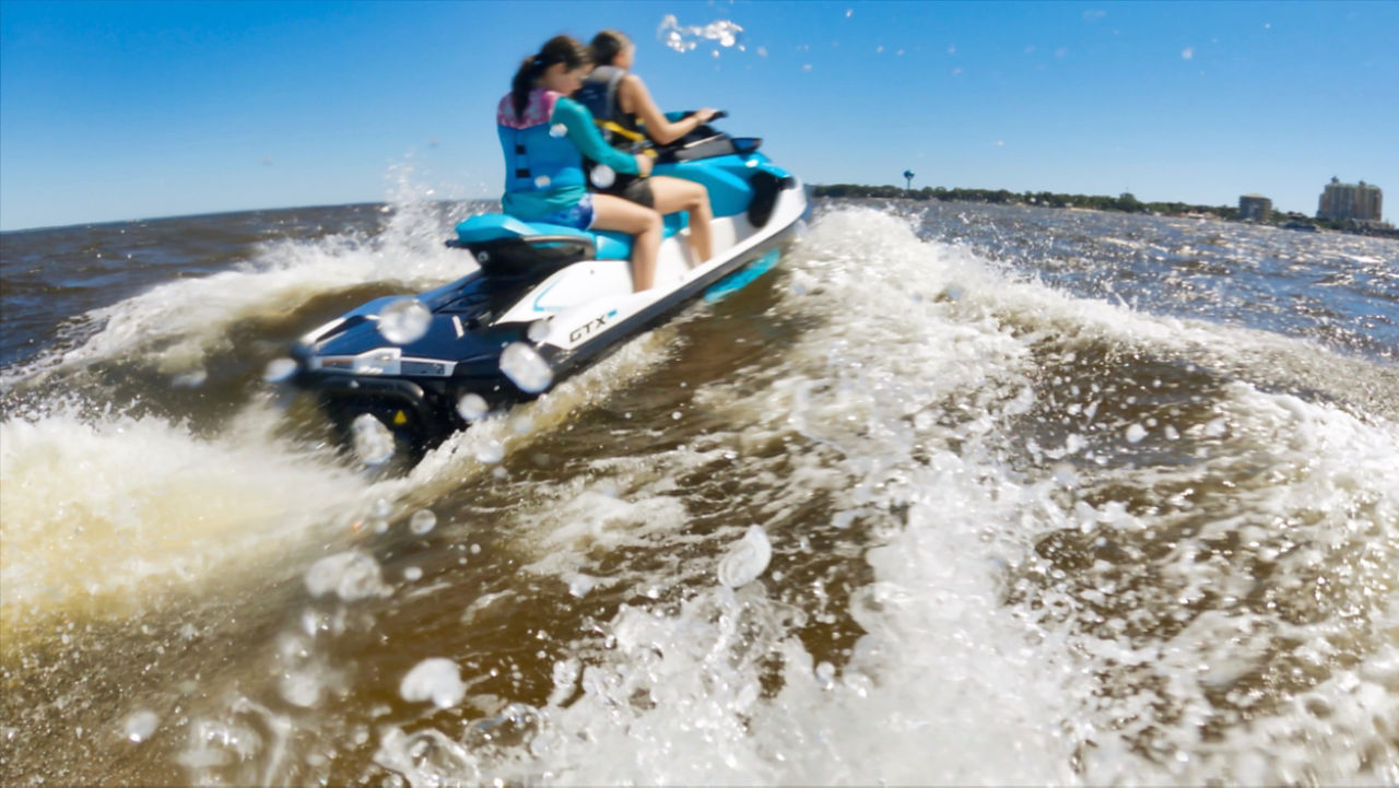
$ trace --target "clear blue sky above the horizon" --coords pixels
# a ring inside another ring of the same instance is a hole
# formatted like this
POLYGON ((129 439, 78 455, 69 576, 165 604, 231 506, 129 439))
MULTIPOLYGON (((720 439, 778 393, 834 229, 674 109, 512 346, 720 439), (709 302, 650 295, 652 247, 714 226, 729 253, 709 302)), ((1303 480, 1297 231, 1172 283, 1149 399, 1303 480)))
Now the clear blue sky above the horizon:
POLYGON ((637 39, 813 183, 1399 202, 1399 3, 0 0, 0 228, 498 196, 494 108, 557 32, 637 39), (727 20, 734 46, 658 35, 727 20), (741 46, 741 49, 740 49, 741 46))

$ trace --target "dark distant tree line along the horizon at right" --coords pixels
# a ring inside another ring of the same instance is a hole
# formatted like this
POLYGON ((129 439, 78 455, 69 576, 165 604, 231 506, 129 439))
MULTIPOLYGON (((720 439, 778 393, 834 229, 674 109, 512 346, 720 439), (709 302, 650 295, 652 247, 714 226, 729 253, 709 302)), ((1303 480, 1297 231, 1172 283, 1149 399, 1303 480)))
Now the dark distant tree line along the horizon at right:
MULTIPOLYGON (((1055 192, 1011 192, 1009 189, 946 189, 923 186, 922 189, 900 189, 898 186, 866 186, 860 183, 827 183, 814 186, 817 197, 886 197, 901 200, 942 200, 963 203, 992 203, 1010 206, 1045 206, 1052 209, 1090 209, 1100 211, 1150 213, 1158 216, 1213 216, 1238 221, 1238 206, 1195 206, 1189 203, 1143 203, 1130 192, 1108 197, 1104 195, 1059 195, 1055 192)), ((1267 224, 1291 228, 1339 230, 1365 235, 1396 235, 1392 227, 1375 223, 1333 221, 1315 218, 1300 213, 1273 211, 1267 224)))

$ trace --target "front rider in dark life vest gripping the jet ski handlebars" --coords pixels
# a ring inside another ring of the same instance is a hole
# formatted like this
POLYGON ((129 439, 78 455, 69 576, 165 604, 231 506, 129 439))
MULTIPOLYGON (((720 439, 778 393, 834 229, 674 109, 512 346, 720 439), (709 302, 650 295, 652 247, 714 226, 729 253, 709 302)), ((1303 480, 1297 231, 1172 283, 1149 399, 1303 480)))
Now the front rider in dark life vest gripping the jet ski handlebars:
MULTIPOLYGON (((637 46, 621 32, 602 31, 593 36, 592 56, 596 67, 574 98, 610 129, 609 143, 613 146, 631 148, 635 141, 646 137, 663 146, 694 132, 715 115, 713 109, 704 108, 683 120, 669 120, 652 101, 641 77, 631 73, 637 46)), ((702 185, 665 175, 646 178, 645 174, 620 174, 611 185, 593 186, 602 195, 625 197, 662 214, 688 213, 695 263, 708 260, 713 252, 709 231, 713 214, 709 209, 709 192, 702 185)))

